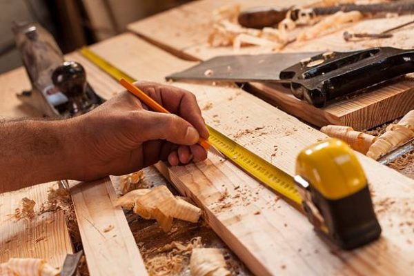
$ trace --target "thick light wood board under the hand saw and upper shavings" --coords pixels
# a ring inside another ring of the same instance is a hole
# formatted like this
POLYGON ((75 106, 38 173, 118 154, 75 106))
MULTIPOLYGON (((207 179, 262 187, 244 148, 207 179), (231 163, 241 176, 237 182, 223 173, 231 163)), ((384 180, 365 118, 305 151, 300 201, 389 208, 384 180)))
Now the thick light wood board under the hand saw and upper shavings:
MULTIPOLYGON (((300 5, 307 1, 290 1, 300 5)), ((157 14, 148 19, 137 21, 128 26, 132 32, 139 34, 157 46, 172 52, 179 57, 193 60, 206 60, 218 55, 258 54, 269 52, 266 48, 246 47, 235 52, 231 47, 211 48, 207 44, 208 33, 211 29, 213 10, 229 3, 241 3, 242 8, 249 6, 286 6, 284 3, 272 1, 212 1, 203 0, 189 3, 168 12, 157 14)), ((355 24, 344 25, 344 29, 334 34, 313 39, 306 42, 295 42, 286 47, 282 52, 308 52, 315 50, 354 50, 373 46, 393 46, 399 48, 411 48, 414 39, 411 34, 413 27, 406 27, 401 32, 395 32, 391 39, 371 41, 359 41, 346 43, 342 39, 344 30, 355 32, 380 32, 388 28, 408 22, 414 16, 391 19, 369 19, 355 24)), ((368 77, 368 76, 367 76, 368 77)), ((332 103, 326 108, 314 108, 306 101, 300 101, 293 97, 289 90, 282 86, 266 86, 260 83, 252 83, 247 88, 255 95, 265 99, 274 106, 278 106, 295 117, 308 121, 315 126, 326 124, 339 124, 352 126, 356 130, 379 126, 397 117, 402 117, 409 110, 414 109, 414 98, 411 81, 404 80, 389 84, 382 88, 367 92, 351 99, 332 103)))

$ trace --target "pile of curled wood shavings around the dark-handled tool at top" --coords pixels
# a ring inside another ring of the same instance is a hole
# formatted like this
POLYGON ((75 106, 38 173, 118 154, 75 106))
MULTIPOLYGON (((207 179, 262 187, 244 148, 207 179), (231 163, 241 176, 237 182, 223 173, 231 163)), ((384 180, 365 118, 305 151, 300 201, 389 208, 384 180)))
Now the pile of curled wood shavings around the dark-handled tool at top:
POLYGON ((353 23, 363 18, 357 11, 342 12, 316 17, 311 10, 312 6, 335 6, 339 4, 354 3, 354 0, 330 0, 318 1, 317 3, 303 6, 299 12, 298 19, 290 19, 290 12, 286 18, 275 28, 266 27, 262 30, 244 28, 237 23, 240 13, 240 6, 223 6, 213 11, 213 28, 208 36, 208 45, 211 47, 233 46, 239 50, 244 46, 261 46, 270 51, 282 50, 288 43, 315 39, 326 34, 331 34, 345 26, 346 23, 353 23), (295 32, 297 26, 311 26, 311 28, 295 32))

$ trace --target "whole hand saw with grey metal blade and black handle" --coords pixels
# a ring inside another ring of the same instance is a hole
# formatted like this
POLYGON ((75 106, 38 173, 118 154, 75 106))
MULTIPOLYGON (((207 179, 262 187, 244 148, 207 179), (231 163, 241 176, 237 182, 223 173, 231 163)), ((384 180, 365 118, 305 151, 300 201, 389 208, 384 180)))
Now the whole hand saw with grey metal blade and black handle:
POLYGON ((414 72, 414 50, 301 52, 214 57, 166 79, 284 83, 317 108, 337 97, 414 72))

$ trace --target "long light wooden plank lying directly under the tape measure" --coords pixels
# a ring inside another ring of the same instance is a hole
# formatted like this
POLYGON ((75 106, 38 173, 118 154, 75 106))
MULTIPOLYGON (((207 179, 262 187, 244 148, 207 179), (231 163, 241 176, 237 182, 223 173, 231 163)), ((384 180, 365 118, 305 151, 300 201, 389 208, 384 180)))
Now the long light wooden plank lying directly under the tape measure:
MULTIPOLYGON (((141 55, 130 55, 129 48, 139 49, 147 43, 130 36, 119 40, 117 51, 106 53, 106 49, 115 48, 113 41, 98 43, 93 50, 132 77, 139 77, 137 68, 145 64, 141 55)), ((167 70, 166 64, 176 59, 145 47, 147 57, 159 60, 159 70, 167 70)), ((159 78, 159 70, 147 74, 159 78)), ((295 173, 299 150, 326 137, 238 88, 173 85, 194 92, 201 107, 211 103, 210 109, 203 110, 208 124, 289 175, 295 173)), ((257 275, 410 275, 414 264, 414 181, 367 157, 358 154, 358 158, 370 181, 383 233, 377 242, 351 252, 332 251, 315 235, 304 215, 230 161, 211 156, 205 162, 168 170, 177 189, 204 209, 208 224, 257 275), (228 196, 219 201, 226 193, 228 196)))

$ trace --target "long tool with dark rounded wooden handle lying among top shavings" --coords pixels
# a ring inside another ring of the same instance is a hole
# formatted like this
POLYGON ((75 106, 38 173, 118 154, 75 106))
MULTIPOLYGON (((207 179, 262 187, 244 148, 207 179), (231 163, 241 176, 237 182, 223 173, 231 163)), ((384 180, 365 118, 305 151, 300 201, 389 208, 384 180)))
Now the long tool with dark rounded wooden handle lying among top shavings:
POLYGON ((246 28, 262 29, 277 25, 286 15, 290 14, 290 19, 297 21, 299 17, 309 16, 311 18, 320 15, 334 14, 339 11, 351 12, 357 10, 363 14, 393 12, 398 14, 409 14, 414 11, 414 1, 394 1, 393 3, 377 3, 366 5, 338 5, 331 7, 316 8, 277 8, 259 7, 245 10, 239 14, 239 24, 246 28))

